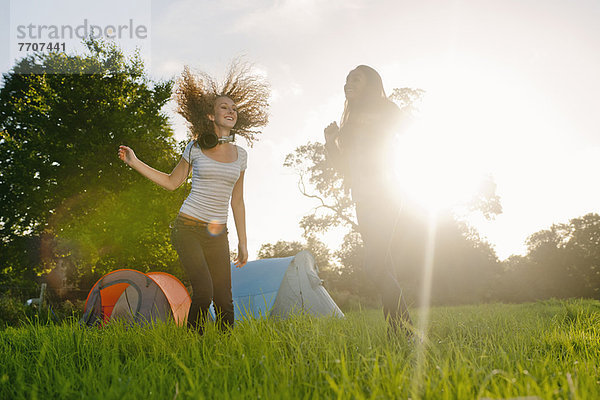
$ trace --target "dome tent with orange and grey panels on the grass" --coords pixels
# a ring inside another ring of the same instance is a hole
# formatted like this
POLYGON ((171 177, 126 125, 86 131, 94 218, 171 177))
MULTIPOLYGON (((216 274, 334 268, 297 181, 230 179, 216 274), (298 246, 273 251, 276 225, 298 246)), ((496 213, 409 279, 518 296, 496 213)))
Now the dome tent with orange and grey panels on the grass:
POLYGON ((81 321, 87 325, 112 319, 166 321, 184 325, 192 300, 185 286, 165 272, 119 269, 104 275, 90 290, 81 321))

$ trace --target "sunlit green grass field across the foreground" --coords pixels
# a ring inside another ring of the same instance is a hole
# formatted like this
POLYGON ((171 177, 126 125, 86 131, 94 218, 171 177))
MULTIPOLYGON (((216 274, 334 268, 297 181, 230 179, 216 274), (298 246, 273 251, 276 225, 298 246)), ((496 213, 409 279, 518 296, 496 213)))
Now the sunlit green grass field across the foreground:
POLYGON ((423 346, 380 310, 202 337, 31 324, 0 331, 0 399, 600 399, 599 332, 591 300, 433 308, 423 346))

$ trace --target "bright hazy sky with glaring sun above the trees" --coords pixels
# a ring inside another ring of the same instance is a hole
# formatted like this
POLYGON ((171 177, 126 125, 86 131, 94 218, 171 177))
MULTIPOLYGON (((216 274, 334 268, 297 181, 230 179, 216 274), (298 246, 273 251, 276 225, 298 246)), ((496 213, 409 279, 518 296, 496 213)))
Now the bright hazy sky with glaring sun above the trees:
MULTIPOLYGON (((148 28, 115 40, 126 52, 137 46, 155 80, 184 65, 223 76, 244 56, 270 82, 270 123, 248 149, 251 258, 264 243, 301 239, 298 222, 316 204, 283 161, 339 121, 346 75, 360 64, 381 74, 388 93, 426 91, 392 149, 398 179, 423 203, 458 201, 493 177, 503 213, 468 220, 500 259, 524 254, 527 237, 553 223, 600 212, 598 1, 0 0, 0 72, 23 54, 18 25, 85 19, 148 28)), ((173 104, 165 112, 184 140, 173 104)), ((340 239, 326 238, 331 247, 340 239)))

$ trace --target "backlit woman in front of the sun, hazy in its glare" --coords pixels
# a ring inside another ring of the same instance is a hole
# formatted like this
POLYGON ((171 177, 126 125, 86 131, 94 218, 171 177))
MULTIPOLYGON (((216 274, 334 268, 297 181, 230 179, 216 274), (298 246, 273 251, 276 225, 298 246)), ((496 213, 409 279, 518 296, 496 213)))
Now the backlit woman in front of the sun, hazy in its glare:
POLYGON ((408 332, 411 321, 396 270, 406 262, 398 257, 398 247, 406 245, 401 236, 413 232, 402 228, 387 154, 394 133, 404 122, 403 113, 385 95, 381 76, 366 65, 350 71, 344 92, 340 127, 332 122, 324 131, 327 158, 343 175, 356 205, 365 268, 381 294, 385 318, 393 331, 404 328, 408 332))

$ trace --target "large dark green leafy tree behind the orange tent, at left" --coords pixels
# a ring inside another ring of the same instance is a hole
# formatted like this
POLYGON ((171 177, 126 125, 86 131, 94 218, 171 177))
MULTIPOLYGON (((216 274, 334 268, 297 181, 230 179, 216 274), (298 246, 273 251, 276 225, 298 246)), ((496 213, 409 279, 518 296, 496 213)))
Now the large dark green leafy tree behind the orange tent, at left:
POLYGON ((65 257, 90 271, 174 258, 164 230, 182 192, 150 188, 116 157, 127 144, 158 169, 177 162, 161 111, 172 81, 150 81, 140 58, 115 46, 91 40, 87 50, 30 56, 3 76, 0 265, 10 274, 65 257), (23 246, 38 259, 20 257, 23 246))

